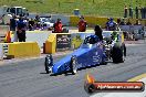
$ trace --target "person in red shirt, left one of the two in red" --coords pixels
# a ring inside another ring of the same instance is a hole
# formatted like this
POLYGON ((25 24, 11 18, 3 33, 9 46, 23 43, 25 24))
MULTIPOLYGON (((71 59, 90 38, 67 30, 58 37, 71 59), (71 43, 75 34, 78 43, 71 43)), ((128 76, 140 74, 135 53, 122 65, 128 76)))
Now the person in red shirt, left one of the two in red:
POLYGON ((58 21, 54 23, 54 33, 62 33, 63 31, 63 24, 61 22, 61 19, 58 19, 58 21))

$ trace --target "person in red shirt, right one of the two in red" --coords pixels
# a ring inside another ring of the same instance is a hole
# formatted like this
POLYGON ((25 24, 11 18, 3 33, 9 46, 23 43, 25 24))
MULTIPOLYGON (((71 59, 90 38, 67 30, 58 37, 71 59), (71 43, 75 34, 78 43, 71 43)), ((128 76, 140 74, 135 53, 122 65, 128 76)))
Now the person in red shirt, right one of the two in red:
POLYGON ((85 31, 86 31, 86 21, 84 20, 84 17, 81 15, 79 22, 79 32, 85 32, 85 31))

